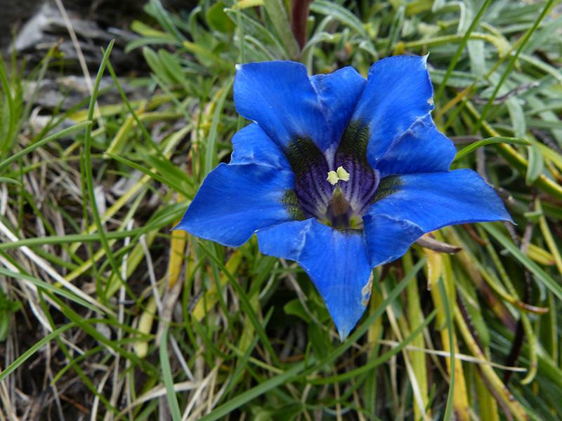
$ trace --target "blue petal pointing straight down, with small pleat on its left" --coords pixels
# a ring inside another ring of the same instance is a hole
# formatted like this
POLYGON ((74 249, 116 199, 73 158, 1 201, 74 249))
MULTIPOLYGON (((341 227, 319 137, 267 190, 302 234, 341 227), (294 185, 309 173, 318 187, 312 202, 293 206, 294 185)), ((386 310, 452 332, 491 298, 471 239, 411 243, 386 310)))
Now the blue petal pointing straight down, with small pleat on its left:
POLYGON ((359 232, 342 232, 314 219, 258 231, 261 253, 296 260, 326 302, 341 340, 365 312, 371 266, 359 232))

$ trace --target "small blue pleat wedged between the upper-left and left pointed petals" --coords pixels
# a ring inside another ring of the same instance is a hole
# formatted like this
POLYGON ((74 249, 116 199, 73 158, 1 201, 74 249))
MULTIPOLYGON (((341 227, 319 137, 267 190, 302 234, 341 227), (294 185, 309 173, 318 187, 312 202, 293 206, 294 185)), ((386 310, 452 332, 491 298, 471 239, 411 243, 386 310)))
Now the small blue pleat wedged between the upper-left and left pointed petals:
POLYGON ((250 124, 237 132, 233 137, 233 148, 230 163, 259 163, 291 170, 281 149, 257 124, 250 124))

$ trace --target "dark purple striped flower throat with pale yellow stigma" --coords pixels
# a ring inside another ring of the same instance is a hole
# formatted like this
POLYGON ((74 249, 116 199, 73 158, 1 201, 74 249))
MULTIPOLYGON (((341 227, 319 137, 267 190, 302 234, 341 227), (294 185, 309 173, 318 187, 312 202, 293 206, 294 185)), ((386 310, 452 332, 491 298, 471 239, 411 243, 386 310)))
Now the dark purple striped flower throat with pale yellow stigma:
POLYGON ((379 185, 377 171, 367 162, 368 138, 368 126, 352 122, 331 156, 311 139, 289 143, 285 156, 295 175, 296 197, 285 203, 295 219, 316 218, 335 229, 362 229, 362 216, 379 185))

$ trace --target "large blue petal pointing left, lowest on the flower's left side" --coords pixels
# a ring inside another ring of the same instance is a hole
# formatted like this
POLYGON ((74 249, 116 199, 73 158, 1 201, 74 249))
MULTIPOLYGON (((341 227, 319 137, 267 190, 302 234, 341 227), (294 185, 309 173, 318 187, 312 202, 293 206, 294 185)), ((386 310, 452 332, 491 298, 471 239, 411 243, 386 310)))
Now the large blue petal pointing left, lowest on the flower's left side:
POLYGON ((282 200, 293 185, 290 171, 221 163, 207 175, 174 229, 224 246, 241 246, 256 229, 292 219, 282 200))

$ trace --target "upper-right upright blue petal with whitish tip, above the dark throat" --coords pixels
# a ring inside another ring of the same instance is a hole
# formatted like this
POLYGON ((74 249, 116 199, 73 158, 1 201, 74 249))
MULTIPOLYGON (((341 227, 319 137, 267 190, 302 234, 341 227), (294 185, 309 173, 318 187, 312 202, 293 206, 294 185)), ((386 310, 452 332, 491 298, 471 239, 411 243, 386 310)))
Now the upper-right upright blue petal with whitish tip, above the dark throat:
POLYGON ((373 168, 398 136, 433 109, 426 57, 400 55, 372 65, 352 121, 367 124, 373 168))

